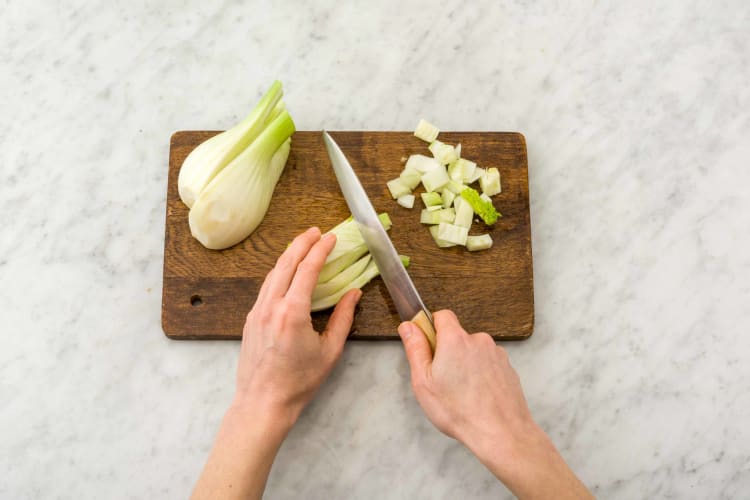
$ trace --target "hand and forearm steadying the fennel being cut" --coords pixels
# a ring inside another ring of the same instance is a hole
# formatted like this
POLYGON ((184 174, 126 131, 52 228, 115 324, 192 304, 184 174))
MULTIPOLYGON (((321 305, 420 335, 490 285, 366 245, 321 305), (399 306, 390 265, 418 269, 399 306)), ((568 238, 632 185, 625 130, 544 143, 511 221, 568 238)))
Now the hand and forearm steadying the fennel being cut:
POLYGON ((310 300, 336 243, 312 228, 268 274, 247 316, 237 390, 193 498, 260 498, 276 453, 336 364, 362 292, 349 291, 318 334, 310 300))

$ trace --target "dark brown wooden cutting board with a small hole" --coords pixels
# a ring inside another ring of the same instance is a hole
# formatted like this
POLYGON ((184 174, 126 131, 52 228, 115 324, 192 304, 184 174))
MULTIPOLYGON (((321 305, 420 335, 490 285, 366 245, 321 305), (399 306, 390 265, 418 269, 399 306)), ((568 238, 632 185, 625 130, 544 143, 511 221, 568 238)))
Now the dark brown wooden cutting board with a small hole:
MULTIPOLYGON (((265 219, 242 243, 207 250, 190 235, 188 208, 177 193, 177 174, 185 157, 218 132, 183 131, 172 135, 164 239, 162 326, 174 339, 238 339, 247 312, 276 258, 295 235, 317 225, 326 231, 349 216, 320 132, 296 132, 286 168, 265 219)), ((453 309, 470 332, 496 339, 523 339, 534 327, 534 291, 526 143, 505 132, 441 132, 449 144, 461 143, 462 156, 481 167, 500 170, 503 191, 494 196, 502 218, 489 232, 490 250, 440 249, 419 223, 421 200, 413 209, 398 206, 386 181, 403 169, 410 154, 428 154, 411 132, 333 132, 378 212, 393 220, 389 231, 396 250, 411 257, 409 274, 427 307, 453 309)), ((421 187, 417 193, 421 192, 421 187)), ((487 232, 474 223, 470 234, 487 232)), ((363 289, 350 338, 397 339, 398 314, 380 278, 363 289)), ((313 314, 321 330, 329 312, 313 314)))

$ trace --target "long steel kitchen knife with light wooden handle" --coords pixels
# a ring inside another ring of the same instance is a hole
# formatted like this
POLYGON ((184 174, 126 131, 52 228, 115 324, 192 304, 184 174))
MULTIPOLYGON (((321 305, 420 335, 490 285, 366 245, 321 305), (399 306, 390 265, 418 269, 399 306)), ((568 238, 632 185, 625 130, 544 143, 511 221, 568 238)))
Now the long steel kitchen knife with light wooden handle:
POLYGON ((425 307, 419 296, 414 283, 409 278, 401 259, 393 247, 391 239, 386 234, 383 225, 378 219, 365 189, 354 173, 351 164, 344 156, 328 132, 323 131, 323 142, 325 142, 328 156, 331 158, 336 179, 339 181, 341 192, 344 194, 346 204, 359 225, 362 238, 370 249, 375 264, 380 269, 388 293, 391 294, 393 305, 402 321, 413 321, 424 332, 430 343, 432 351, 435 351, 435 328, 432 324, 432 315, 425 307))

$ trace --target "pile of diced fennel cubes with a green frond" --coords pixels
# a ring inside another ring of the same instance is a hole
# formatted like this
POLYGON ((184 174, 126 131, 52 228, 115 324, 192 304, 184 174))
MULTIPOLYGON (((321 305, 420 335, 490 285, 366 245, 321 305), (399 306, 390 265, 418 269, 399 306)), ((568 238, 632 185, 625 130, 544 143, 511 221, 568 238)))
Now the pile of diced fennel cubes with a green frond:
POLYGON ((424 208, 419 220, 430 226, 430 234, 440 248, 464 246, 470 252, 492 247, 488 234, 469 235, 475 216, 487 226, 497 222, 501 214, 492 203, 500 194, 500 171, 482 168, 461 157, 461 144, 452 146, 437 140, 440 130, 426 120, 419 120, 414 135, 429 143, 432 156, 409 156, 404 170, 386 185, 393 199, 404 208, 412 208, 417 197, 413 191, 421 183, 424 208), (478 183, 479 189, 471 187, 478 183))

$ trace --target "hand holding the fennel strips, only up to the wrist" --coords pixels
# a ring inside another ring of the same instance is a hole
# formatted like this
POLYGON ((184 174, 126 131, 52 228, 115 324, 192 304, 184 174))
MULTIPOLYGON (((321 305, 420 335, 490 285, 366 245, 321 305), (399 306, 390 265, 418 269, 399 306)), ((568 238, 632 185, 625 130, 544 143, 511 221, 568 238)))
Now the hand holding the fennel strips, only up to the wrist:
POLYGON ((318 228, 297 236, 266 276, 242 332, 235 404, 260 407, 289 427, 339 359, 362 295, 344 295, 325 331, 315 331, 311 296, 335 244, 318 228))

